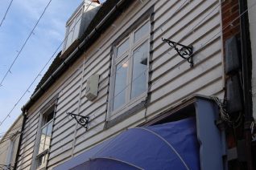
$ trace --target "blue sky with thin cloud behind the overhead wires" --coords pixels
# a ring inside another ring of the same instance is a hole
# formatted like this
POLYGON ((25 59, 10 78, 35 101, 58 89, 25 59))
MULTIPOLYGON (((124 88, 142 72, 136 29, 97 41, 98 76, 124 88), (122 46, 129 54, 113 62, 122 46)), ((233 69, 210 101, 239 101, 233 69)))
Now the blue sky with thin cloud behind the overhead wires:
MULTIPOLYGON (((11 0, 0 1, 0 21, 11 0)), ((47 60, 64 39, 65 23, 82 0, 52 0, 34 34, 27 42, 19 58, 14 63, 11 73, 0 87, 0 121, 14 107, 24 91, 31 84, 47 60)), ((0 81, 8 67, 23 46, 48 0, 14 0, 6 19, 0 27, 0 81)), ((105 1, 101 1, 105 2, 105 1)), ((61 50, 61 49, 60 49, 61 50)), ((52 63, 52 62, 51 62, 52 63)), ((47 71, 47 69, 45 69, 47 71)), ((39 77, 22 101, 11 112, 10 117, 0 127, 0 136, 6 132, 21 114, 20 108, 27 103, 42 78, 39 77)))

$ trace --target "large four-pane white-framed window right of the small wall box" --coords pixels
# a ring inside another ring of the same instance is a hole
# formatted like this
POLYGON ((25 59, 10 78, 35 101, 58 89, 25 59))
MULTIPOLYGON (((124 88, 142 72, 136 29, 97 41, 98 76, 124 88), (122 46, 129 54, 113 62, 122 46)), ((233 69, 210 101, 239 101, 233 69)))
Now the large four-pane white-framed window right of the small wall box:
POLYGON ((112 114, 146 95, 150 28, 147 20, 114 47, 109 96, 112 114))

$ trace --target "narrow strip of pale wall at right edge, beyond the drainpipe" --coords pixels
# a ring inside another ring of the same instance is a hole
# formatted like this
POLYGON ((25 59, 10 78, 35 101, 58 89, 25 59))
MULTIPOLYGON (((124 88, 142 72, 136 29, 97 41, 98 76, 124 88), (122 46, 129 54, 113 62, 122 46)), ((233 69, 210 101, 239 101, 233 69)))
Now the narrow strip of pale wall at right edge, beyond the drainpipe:
MULTIPOLYGON (((255 0, 247 0, 248 6, 255 5, 255 0)), ((253 112, 254 119, 256 119, 256 6, 249 10, 249 23, 250 23, 250 42, 252 49, 252 94, 253 94, 253 112)))

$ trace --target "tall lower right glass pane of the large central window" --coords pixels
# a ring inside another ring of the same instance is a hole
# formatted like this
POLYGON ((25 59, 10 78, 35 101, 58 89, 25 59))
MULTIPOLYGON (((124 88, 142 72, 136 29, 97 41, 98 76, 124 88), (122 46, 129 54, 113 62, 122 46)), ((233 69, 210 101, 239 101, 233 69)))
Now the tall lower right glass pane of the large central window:
POLYGON ((134 51, 131 98, 141 95, 147 87, 147 42, 134 51))

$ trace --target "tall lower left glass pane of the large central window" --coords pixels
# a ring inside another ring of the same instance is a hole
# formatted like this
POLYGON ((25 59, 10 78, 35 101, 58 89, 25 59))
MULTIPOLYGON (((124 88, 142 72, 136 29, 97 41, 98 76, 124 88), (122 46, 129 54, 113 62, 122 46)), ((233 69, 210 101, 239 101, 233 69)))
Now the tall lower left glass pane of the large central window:
POLYGON ((114 83, 113 110, 126 103, 126 78, 129 61, 124 61, 116 67, 116 79, 114 83))

